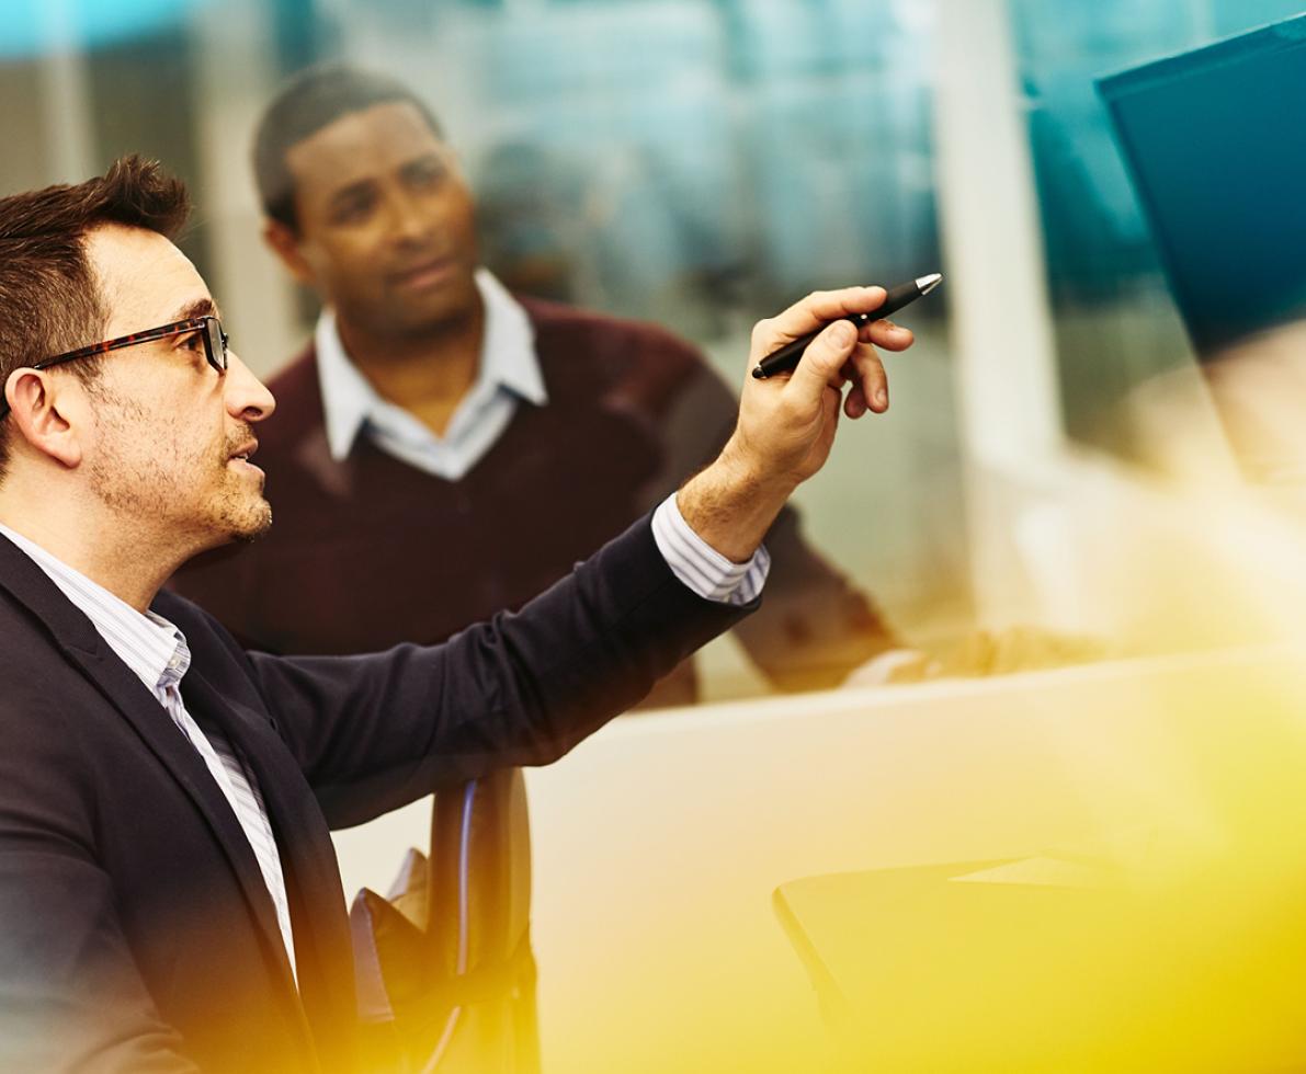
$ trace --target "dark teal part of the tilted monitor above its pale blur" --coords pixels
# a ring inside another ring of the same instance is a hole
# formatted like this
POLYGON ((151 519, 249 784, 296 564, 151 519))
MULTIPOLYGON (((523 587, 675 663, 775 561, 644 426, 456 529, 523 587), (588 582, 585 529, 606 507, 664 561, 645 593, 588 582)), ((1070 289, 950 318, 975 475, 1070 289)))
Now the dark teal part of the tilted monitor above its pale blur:
POLYGON ((1199 354, 1306 313, 1306 16, 1104 80, 1199 354))

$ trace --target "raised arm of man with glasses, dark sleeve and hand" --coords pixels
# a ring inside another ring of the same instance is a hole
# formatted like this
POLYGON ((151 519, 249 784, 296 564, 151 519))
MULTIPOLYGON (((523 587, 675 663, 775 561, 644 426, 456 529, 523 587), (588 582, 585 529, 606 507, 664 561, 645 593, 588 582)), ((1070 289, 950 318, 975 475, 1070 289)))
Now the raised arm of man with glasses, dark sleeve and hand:
MULTIPOLYGON (((778 343, 883 298, 882 288, 848 288, 804 299, 757 326, 750 368, 778 343)), ((842 401, 849 416, 884 408, 884 371, 867 341, 887 331, 863 329, 859 341, 850 325, 832 325, 791 377, 746 385, 720 458, 678 493, 686 522, 712 548, 735 562, 754 555, 793 489, 824 463, 845 382, 854 385, 842 401)), ((645 518, 518 613, 445 645, 248 662, 328 820, 350 825, 494 767, 555 759, 751 607, 695 596, 645 518)))

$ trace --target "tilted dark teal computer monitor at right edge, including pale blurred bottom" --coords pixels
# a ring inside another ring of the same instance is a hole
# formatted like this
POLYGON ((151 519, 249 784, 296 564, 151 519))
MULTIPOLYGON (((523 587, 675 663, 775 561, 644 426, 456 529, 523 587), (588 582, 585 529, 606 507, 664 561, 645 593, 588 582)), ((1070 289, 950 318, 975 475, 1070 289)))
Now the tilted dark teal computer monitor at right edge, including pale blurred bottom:
POLYGON ((1098 90, 1234 458, 1306 487, 1306 16, 1098 90))

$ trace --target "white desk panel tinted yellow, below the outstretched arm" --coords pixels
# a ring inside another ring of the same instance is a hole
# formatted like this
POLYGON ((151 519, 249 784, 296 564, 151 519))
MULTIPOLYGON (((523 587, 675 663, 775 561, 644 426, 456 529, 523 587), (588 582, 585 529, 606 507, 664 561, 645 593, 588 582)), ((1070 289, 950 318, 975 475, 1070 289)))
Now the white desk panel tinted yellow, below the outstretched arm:
MULTIPOLYGON (((820 1069, 780 883, 1140 831, 1207 852, 1239 773, 1306 748, 1298 667, 1199 654, 616 720, 528 773, 546 1071, 820 1069)), ((428 817, 338 833, 346 893, 385 890, 428 817)))

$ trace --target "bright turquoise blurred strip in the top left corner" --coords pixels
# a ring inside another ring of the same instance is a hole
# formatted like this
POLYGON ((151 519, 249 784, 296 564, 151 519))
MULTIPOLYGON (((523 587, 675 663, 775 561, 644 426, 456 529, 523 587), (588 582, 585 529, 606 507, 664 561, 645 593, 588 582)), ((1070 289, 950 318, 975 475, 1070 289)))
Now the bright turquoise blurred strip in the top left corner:
POLYGON ((210 0, 0 0, 0 59, 97 48, 176 26, 210 0))

